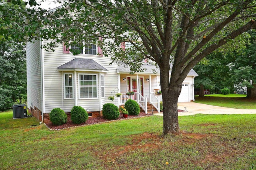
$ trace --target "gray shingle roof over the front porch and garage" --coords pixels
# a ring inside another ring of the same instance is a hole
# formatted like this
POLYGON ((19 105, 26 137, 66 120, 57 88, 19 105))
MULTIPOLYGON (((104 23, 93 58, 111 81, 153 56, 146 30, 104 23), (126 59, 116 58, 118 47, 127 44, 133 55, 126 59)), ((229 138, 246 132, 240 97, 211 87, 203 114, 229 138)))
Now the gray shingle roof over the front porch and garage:
MULTIPOLYGON (((146 69, 146 70, 144 70, 143 73, 146 73, 146 74, 160 74, 159 68, 155 65, 144 64, 144 65, 142 65, 142 68, 146 69)), ((127 64, 124 64, 124 63, 119 63, 118 70, 119 70, 119 72, 129 73, 130 72, 130 66, 128 66, 127 64)), ((198 76, 198 74, 193 69, 191 69, 190 72, 188 73, 188 76, 198 76)))

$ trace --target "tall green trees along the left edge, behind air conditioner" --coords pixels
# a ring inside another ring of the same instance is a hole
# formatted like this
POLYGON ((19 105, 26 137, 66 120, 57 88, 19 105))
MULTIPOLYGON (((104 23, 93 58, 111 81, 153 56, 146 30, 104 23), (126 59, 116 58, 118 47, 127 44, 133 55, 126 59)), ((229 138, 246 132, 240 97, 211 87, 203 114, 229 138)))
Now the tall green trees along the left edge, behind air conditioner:
MULTIPOLYGON (((24 22, 24 2, 0 5, 0 110, 26 100, 26 52, 18 35, 24 22)), ((26 101, 24 101, 26 102, 26 101)))

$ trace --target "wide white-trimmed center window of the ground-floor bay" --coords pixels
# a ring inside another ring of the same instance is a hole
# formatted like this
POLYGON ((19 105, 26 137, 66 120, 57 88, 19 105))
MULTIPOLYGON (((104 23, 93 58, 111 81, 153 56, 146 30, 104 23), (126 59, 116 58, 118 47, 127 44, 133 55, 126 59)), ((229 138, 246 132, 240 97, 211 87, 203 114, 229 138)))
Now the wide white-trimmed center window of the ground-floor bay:
POLYGON ((97 75, 79 74, 79 98, 97 98, 97 75))

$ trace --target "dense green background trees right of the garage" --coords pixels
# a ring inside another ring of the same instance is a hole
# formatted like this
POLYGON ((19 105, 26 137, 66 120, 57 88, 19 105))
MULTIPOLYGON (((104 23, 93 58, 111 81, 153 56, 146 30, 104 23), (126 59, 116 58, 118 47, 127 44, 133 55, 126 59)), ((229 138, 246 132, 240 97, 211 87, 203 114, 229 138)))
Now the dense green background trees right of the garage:
POLYGON ((200 88, 201 97, 204 96, 204 89, 220 94, 222 88, 234 92, 243 90, 245 86, 248 89, 247 97, 256 97, 256 31, 248 33, 250 37, 243 49, 228 53, 224 49, 212 53, 194 66, 199 74, 195 78, 195 88, 200 88))

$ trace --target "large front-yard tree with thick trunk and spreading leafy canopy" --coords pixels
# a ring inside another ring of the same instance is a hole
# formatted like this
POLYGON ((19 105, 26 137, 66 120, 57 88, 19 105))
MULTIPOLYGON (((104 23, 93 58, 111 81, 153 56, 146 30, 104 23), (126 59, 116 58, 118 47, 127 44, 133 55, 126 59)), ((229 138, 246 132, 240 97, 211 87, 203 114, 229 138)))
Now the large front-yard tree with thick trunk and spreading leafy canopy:
POLYGON ((254 0, 65 0, 63 8, 49 12, 30 8, 25 30, 29 40, 53 40, 46 50, 62 42, 98 43, 105 56, 129 64, 133 72, 142 70, 142 59, 157 64, 163 133, 178 133, 177 102, 186 75, 219 47, 233 50, 234 44, 244 44, 246 31, 256 28, 255 6, 254 0))

